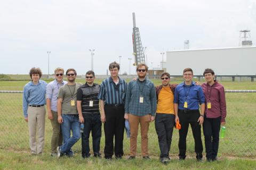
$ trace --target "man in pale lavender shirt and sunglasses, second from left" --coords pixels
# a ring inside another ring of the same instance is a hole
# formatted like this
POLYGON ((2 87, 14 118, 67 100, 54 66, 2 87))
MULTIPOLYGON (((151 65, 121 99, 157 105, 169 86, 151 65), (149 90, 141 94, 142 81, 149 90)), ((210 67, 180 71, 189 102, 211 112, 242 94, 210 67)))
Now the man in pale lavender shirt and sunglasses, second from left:
POLYGON ((57 156, 57 147, 62 145, 62 133, 58 122, 57 100, 60 87, 67 81, 63 81, 64 69, 58 67, 54 70, 55 80, 47 84, 46 87, 46 105, 48 118, 52 124, 51 156, 57 156))

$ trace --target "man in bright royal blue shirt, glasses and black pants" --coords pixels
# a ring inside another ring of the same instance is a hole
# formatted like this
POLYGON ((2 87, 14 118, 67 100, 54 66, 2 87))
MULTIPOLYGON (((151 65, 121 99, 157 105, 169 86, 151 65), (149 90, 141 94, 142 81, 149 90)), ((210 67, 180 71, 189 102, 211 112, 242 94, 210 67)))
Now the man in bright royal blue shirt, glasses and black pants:
POLYGON ((190 124, 195 140, 196 159, 202 160, 203 144, 201 139, 201 124, 204 122, 204 93, 201 86, 196 86, 193 79, 193 70, 183 70, 184 82, 180 83, 174 92, 175 122, 179 121, 179 159, 186 158, 186 138, 190 124), (199 105, 201 112, 199 112, 199 105))

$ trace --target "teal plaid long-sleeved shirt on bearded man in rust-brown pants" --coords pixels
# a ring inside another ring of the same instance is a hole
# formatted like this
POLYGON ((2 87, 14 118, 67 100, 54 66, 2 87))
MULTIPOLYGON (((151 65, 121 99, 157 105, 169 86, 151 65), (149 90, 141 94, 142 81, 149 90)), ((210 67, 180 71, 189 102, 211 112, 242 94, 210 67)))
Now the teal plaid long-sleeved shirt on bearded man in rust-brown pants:
POLYGON ((137 116, 145 116, 156 113, 156 90, 154 84, 145 79, 140 81, 131 81, 128 84, 125 97, 125 113, 137 116), (140 97, 143 97, 143 103, 140 103, 140 97))

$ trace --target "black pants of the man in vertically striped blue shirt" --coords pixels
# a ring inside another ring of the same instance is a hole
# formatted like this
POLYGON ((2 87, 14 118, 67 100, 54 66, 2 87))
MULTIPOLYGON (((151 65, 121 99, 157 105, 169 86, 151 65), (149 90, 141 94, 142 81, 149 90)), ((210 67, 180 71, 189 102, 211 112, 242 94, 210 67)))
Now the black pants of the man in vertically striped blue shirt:
POLYGON ((106 122, 104 123, 105 132, 105 158, 111 158, 115 151, 116 157, 122 157, 123 140, 124 140, 124 106, 109 106, 104 107, 106 122), (115 136, 115 149, 114 149, 115 136))

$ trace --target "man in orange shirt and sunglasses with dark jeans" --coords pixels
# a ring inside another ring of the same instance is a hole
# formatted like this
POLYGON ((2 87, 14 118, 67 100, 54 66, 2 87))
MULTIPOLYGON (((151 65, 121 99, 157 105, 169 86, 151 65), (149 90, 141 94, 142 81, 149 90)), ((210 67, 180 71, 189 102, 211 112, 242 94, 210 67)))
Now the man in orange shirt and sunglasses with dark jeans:
POLYGON ((172 142, 172 132, 175 124, 174 90, 178 84, 170 84, 170 74, 161 74, 162 85, 156 87, 157 109, 155 128, 158 135, 160 160, 167 164, 170 160, 169 151, 172 142))

